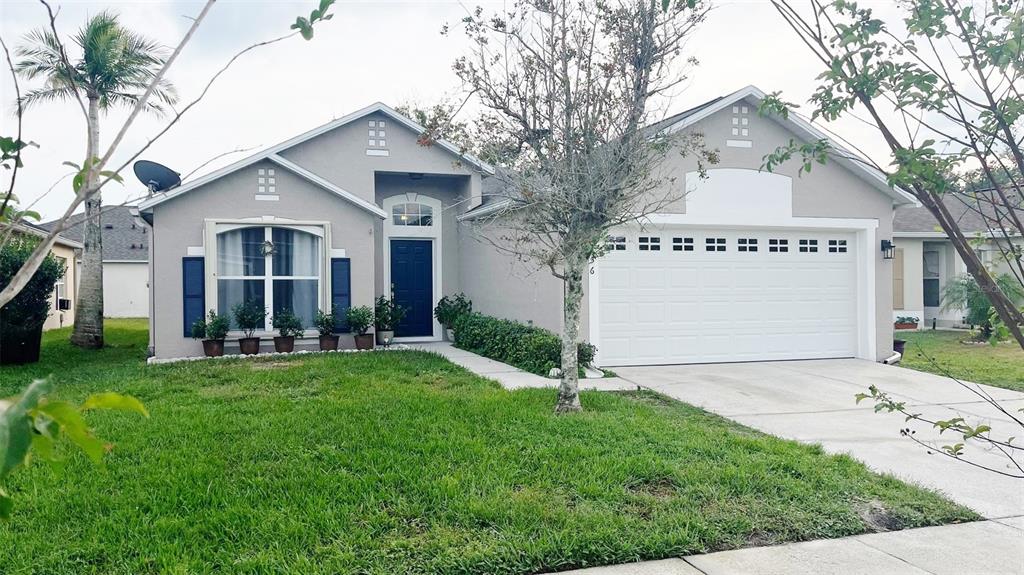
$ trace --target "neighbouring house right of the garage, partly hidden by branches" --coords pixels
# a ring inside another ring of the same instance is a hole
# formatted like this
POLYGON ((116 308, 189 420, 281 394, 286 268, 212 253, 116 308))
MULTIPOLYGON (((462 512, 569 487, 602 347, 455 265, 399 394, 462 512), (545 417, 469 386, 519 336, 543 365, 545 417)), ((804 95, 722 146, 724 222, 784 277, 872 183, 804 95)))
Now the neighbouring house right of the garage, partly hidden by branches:
MULTIPOLYGON (((995 245, 989 224, 972 206, 969 197, 947 194, 943 202, 964 234, 973 241, 981 262, 996 274, 1009 267, 995 245)), ((982 204, 985 207, 985 204, 982 204)), ((1024 210, 1021 211, 1024 218, 1024 210)), ((912 316, 925 327, 964 325, 964 310, 943 310, 942 292, 951 278, 967 273, 964 260, 932 214, 924 207, 901 207, 893 221, 893 317, 912 316)), ((1024 247, 1024 239, 1010 239, 1024 247)), ((1002 240, 1004 242, 1006 239, 1002 240)))

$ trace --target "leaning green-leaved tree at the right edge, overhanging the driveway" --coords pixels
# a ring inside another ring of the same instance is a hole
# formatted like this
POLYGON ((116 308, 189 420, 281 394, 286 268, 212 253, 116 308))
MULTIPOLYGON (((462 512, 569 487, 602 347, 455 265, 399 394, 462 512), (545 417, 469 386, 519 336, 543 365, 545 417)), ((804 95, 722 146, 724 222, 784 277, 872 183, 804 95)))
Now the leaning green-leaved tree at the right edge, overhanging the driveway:
MULTIPOLYGON (((986 238, 1024 285, 1024 2, 905 0, 900 21, 849 0, 810 0, 806 10, 790 0, 772 3, 822 64, 812 119, 857 118, 873 128, 890 156, 872 165, 928 209, 1024 348, 1024 313, 942 201, 968 179, 985 190, 956 197, 987 223, 986 238)), ((762 112, 785 115, 788 107, 775 94, 762 112)), ((824 141, 791 143, 765 166, 799 157, 810 170, 836 152, 824 141)))

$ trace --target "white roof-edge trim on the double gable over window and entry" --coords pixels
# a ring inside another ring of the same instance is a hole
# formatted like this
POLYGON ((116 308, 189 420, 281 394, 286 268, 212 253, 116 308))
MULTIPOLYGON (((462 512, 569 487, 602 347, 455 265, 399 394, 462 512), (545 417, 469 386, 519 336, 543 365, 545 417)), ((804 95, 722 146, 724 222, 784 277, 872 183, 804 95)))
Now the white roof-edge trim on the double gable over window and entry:
MULTIPOLYGON (((148 211, 154 206, 163 204, 164 202, 167 202, 168 200, 171 200, 173 197, 177 197, 178 195, 181 195, 182 193, 185 193, 187 191, 196 189, 197 187, 200 187, 200 186, 202 186, 204 184, 207 184, 209 182, 212 182, 212 181, 214 181, 214 180, 216 180, 218 178, 226 176, 227 174, 237 172, 239 170, 242 170, 243 168, 247 168, 249 166, 252 166, 253 164, 256 164, 257 162, 262 162, 264 160, 268 160, 270 162, 273 162, 273 163, 280 165, 282 168, 285 168, 286 170, 289 170, 290 172, 294 172, 295 174, 297 174, 297 175, 299 175, 299 176, 301 176, 301 177, 309 180, 312 183, 315 183, 316 185, 319 185, 319 186, 324 187, 325 189, 328 189, 329 191, 338 193, 339 195, 341 195, 342 197, 344 197, 346 200, 349 200, 349 201, 358 200, 355 195, 352 195, 348 191, 342 190, 338 186, 335 186, 334 184, 331 184, 330 182, 328 182, 324 178, 321 178, 319 176, 316 176, 312 172, 309 172, 308 170, 304 170, 302 168, 299 168, 299 166, 297 164, 294 164, 292 162, 288 162, 287 160, 285 160, 284 158, 282 158, 279 154, 279 152, 284 151, 284 150, 286 150, 286 149, 288 149, 290 147, 293 147, 295 145, 298 145, 298 144, 300 144, 300 143, 302 143, 302 142, 304 142, 306 140, 310 140, 310 139, 312 139, 312 138, 314 138, 316 136, 319 136, 321 134, 326 134, 327 132, 330 132, 331 130, 334 130, 334 129, 340 128, 340 127, 342 127, 342 126, 344 126, 346 124, 350 124, 352 122, 355 122, 356 120, 358 120, 360 118, 364 118, 364 117, 366 117, 368 115, 371 115, 371 114, 383 114, 383 115, 387 116, 388 118, 394 120, 395 122, 401 124, 402 126, 406 126, 410 130, 413 130, 417 134, 420 134, 420 133, 423 133, 424 131, 426 131, 426 128, 424 128, 423 126, 417 124, 413 120, 411 120, 411 119, 402 116, 401 114, 398 114, 397 112, 394 110, 394 108, 392 108, 392 107, 390 107, 387 104, 384 104, 382 102, 377 102, 377 103, 368 105, 367 107, 364 107, 361 109, 358 109, 356 112, 353 112, 352 114, 349 114, 347 116, 344 116, 342 118, 334 120, 332 122, 328 122, 327 124, 324 124, 323 126, 319 126, 317 128, 313 128, 312 130, 309 130, 308 132, 304 132, 302 134, 299 134, 298 136, 295 136, 294 138, 285 140, 285 141, 283 141, 283 142, 281 142, 279 144, 274 144, 274 145, 272 145, 272 146, 270 146, 270 147, 268 147, 266 149, 263 149, 261 151, 258 151, 258 152, 252 154, 252 156, 244 158, 244 159, 242 159, 242 160, 240 160, 240 161, 238 161, 238 162, 236 162, 233 164, 229 164, 229 165, 227 165, 227 166, 225 166, 225 167, 223 167, 223 168, 221 168, 219 170, 214 170, 213 172, 210 172, 209 174, 206 174, 206 175, 204 175, 204 176, 202 176, 200 178, 197 178, 197 179, 195 179, 195 180, 193 180, 190 182, 182 183, 181 185, 179 185, 177 187, 171 188, 171 189, 163 191, 161 193, 155 193, 152 197, 145 200, 144 202, 141 202, 139 204, 139 206, 138 206, 138 209, 140 211, 142 211, 142 212, 148 211), (284 161, 285 164, 282 164, 281 161, 284 161), (296 168, 299 168, 303 173, 297 172, 295 170, 296 168), (309 176, 313 176, 313 178, 310 178, 309 176), (328 184, 328 185, 325 186, 325 184, 328 184), (328 187, 328 186, 330 186, 330 187, 328 187), (339 193, 339 190, 342 191, 342 192, 344 192, 344 193, 339 193)), ((480 171, 482 171, 482 172, 484 172, 486 174, 494 174, 495 173, 495 170, 494 170, 494 168, 490 167, 490 165, 488 165, 488 164, 480 161, 479 159, 477 159, 474 156, 471 156, 471 154, 468 154, 468 153, 462 153, 460 151, 459 146, 457 146, 456 144, 454 144, 454 143, 452 143, 452 142, 450 142, 447 140, 439 139, 439 140, 437 140, 437 141, 434 142, 434 145, 436 145, 436 146, 438 146, 438 147, 440 147, 440 148, 442 148, 442 149, 444 149, 444 150, 446 150, 446 151, 449 151, 449 152, 451 152, 451 153, 453 153, 453 154, 455 154, 455 156, 457 156, 457 157, 465 160, 466 162, 468 162, 469 164, 471 164, 473 166, 476 166, 477 169, 479 169, 480 171)), ((367 209, 369 206, 373 206, 372 204, 369 204, 369 203, 364 202, 361 200, 359 200, 359 202, 361 204, 357 204, 357 205, 360 208, 364 208, 364 209, 367 209)), ((376 207, 374 207, 374 208, 376 208, 376 207)), ((379 208, 377 210, 379 211, 379 208)), ((376 212, 374 212, 374 213, 376 213, 376 212)), ((384 217, 382 214, 383 214, 383 211, 381 211, 381 214, 378 214, 378 215, 380 215, 380 217, 384 217)))

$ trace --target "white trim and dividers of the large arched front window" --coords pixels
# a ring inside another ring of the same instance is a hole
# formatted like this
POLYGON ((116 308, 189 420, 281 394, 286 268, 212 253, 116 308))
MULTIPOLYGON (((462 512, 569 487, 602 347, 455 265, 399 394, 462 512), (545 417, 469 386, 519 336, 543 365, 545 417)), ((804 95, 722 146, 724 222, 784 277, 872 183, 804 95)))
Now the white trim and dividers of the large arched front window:
MULTIPOLYGON (((231 310, 220 310, 217 309, 217 279, 251 279, 252 277, 247 276, 236 276, 236 275, 218 275, 217 273, 217 235, 225 231, 230 231, 232 229, 239 229, 244 227, 262 227, 264 229, 271 227, 283 227, 295 229, 298 231, 305 231, 307 233, 312 233, 321 238, 321 276, 289 276, 294 279, 318 279, 319 290, 317 294, 316 305, 318 309, 325 309, 324 303, 330 301, 331 299, 331 222, 328 221, 316 221, 316 220, 286 220, 281 218, 275 218, 273 216, 263 216, 259 218, 245 218, 245 219, 206 219, 204 220, 204 232, 203 232, 203 252, 205 254, 203 258, 203 266, 206 272, 206 311, 214 310, 219 314, 229 316, 231 310)), ((267 262, 267 265, 270 265, 267 262)), ((262 276, 266 279, 267 275, 262 276)), ((265 328, 257 330, 255 337, 257 338, 272 338, 278 335, 276 330, 273 329, 273 325, 270 322, 270 317, 273 315, 273 293, 264 294, 265 303, 267 304, 267 319, 264 323, 265 328)), ((306 325, 306 329, 302 335, 302 338, 314 338, 318 334, 312 325, 306 325)), ((228 334, 231 338, 237 338, 241 336, 241 331, 231 330, 228 334)))

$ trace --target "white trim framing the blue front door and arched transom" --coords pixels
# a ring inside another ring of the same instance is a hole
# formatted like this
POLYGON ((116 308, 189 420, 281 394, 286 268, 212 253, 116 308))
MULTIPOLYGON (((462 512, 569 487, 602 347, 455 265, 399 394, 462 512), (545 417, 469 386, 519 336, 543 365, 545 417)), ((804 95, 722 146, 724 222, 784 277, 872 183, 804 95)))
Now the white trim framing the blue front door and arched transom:
MULTIPOLYGON (((441 242, 441 220, 443 215, 443 205, 440 200, 431 197, 429 195, 423 195, 422 193, 409 192, 399 193, 397 195, 391 195, 385 197, 381 203, 384 208, 384 212, 387 216, 384 218, 384 237, 381 238, 383 242, 384 251, 384 261, 382 262, 384 267, 384 291, 385 296, 388 299, 392 297, 391 294, 391 240, 392 239, 430 239, 431 247, 433 248, 433 253, 431 255, 431 265, 433 270, 431 270, 432 277, 432 291, 433 291, 433 302, 431 303, 431 316, 433 315, 432 308, 437 306, 437 303, 441 299, 441 270, 443 268, 443 262, 441 261, 441 254, 443 254, 442 242, 441 242), (394 216, 391 210, 397 204, 423 204, 429 206, 433 211, 433 216, 431 217, 432 225, 429 226, 403 226, 394 224, 394 216)), ((441 340, 441 324, 437 322, 437 318, 433 318, 433 333, 430 336, 418 337, 418 338, 395 338, 395 342, 439 342, 441 340)))

